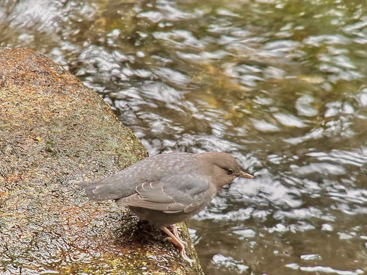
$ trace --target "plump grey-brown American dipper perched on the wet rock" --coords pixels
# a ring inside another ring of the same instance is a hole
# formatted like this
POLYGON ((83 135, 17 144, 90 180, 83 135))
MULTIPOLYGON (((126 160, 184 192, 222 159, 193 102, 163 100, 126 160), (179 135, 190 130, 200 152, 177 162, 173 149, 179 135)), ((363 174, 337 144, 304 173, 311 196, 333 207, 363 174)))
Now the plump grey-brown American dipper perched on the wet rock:
POLYGON ((225 185, 236 177, 254 179, 241 171, 227 153, 171 152, 145 158, 105 179, 81 182, 92 201, 114 199, 130 208, 140 219, 156 224, 177 246, 181 256, 187 243, 176 224, 200 212, 225 185), (172 232, 168 228, 172 229, 172 232))

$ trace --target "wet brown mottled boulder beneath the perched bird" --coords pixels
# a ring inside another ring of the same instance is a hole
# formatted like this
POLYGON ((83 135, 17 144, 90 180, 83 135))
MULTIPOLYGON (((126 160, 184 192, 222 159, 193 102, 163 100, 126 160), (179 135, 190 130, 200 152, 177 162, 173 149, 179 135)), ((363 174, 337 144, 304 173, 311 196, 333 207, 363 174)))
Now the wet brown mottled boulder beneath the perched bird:
POLYGON ((146 156, 75 76, 31 50, 0 48, 0 273, 202 274, 157 228, 77 185, 146 156))

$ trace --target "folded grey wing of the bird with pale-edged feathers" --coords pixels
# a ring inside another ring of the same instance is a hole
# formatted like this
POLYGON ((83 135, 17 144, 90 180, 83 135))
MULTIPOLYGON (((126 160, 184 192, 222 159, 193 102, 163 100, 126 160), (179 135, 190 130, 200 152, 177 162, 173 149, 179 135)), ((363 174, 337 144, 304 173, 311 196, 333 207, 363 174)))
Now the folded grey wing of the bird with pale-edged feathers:
POLYGON ((184 182, 182 182, 182 177, 170 177, 159 183, 144 182, 136 187, 135 194, 117 201, 165 213, 191 212, 206 201, 206 197, 210 196, 208 194, 209 183, 203 179, 198 181, 195 176, 188 177, 184 182))

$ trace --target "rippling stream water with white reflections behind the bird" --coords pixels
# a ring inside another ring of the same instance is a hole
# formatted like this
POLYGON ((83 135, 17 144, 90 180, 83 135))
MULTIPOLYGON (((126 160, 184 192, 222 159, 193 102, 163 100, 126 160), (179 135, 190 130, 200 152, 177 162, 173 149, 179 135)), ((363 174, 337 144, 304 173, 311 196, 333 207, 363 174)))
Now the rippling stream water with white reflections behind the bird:
POLYGON ((363 0, 1 1, 150 154, 226 151, 255 180, 188 221, 206 274, 367 271, 363 0))

